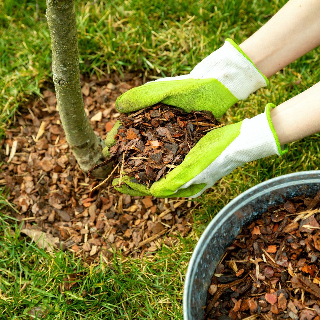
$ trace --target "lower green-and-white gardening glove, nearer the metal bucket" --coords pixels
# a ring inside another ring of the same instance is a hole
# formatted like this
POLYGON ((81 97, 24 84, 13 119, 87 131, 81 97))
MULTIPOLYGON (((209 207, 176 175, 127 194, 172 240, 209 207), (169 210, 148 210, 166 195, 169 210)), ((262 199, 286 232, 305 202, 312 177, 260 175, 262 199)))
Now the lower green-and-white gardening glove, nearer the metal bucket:
MULTIPOLYGON (((280 146, 271 122, 270 109, 274 107, 274 104, 268 103, 265 112, 258 116, 207 133, 180 165, 167 173, 165 178, 154 182, 150 189, 128 177, 123 180, 125 185, 116 189, 159 198, 195 198, 246 162, 275 154, 282 156, 288 149, 280 146)), ((115 179, 113 185, 118 182, 115 179)))

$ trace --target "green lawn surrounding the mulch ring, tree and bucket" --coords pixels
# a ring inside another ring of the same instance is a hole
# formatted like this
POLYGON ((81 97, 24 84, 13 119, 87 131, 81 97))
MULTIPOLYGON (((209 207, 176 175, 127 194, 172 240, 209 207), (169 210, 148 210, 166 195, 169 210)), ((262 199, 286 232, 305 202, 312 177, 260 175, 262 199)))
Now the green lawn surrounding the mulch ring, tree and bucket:
MULTIPOLYGON (((241 43, 285 2, 79 0, 81 72, 140 71, 149 78, 188 72, 225 38, 241 43)), ((14 112, 51 81, 44 13, 45 1, 0 2, 0 139, 14 112)), ((267 88, 237 103, 224 120, 252 117, 267 102, 279 104, 320 81, 319 53, 313 50, 278 72, 267 88)), ((261 181, 319 169, 319 137, 291 144, 282 158, 254 161, 223 178, 200 199, 188 238, 143 261, 121 262, 115 255, 108 266, 90 267, 69 253, 50 255, 20 237, 0 194, 0 319, 36 318, 27 316, 36 310, 45 310, 46 319, 182 319, 188 260, 207 223, 230 199, 261 181), (69 288, 68 281, 76 283, 69 288)))

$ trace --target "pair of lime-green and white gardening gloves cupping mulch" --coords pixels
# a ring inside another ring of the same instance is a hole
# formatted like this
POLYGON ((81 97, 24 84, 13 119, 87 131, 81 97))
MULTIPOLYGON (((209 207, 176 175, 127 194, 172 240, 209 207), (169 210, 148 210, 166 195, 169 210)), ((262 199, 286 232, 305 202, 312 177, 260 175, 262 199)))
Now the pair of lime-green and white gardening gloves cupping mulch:
MULTIPOLYGON (((236 101, 268 84, 268 79, 245 53, 227 39, 188 75, 161 78, 133 88, 116 100, 116 108, 129 113, 163 102, 186 112, 211 111, 219 118, 236 101)), ((131 196, 197 197, 246 162, 283 155, 287 148, 280 146, 270 118, 270 109, 274 107, 268 103, 263 114, 208 132, 180 165, 150 188, 128 176, 123 176, 124 184, 115 188, 131 196)), ((106 138, 103 149, 106 157, 115 144, 119 125, 117 122, 106 138)), ((113 185, 118 184, 119 179, 114 179, 113 185)))

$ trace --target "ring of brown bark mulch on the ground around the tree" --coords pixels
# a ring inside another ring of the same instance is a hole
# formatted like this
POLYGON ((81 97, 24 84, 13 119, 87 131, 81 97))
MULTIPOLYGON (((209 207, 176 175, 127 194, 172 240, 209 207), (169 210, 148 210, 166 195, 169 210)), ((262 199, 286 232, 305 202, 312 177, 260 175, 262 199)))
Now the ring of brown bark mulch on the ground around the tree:
MULTIPOLYGON (((120 116, 116 98, 141 82, 132 74, 82 78, 85 111, 98 136, 104 139, 120 116)), ((114 249, 132 257, 149 255, 163 242, 178 241, 172 236, 189 232, 195 201, 131 197, 108 185, 91 192, 99 181, 76 164, 55 94, 45 90, 43 96, 19 110, 1 142, 0 185, 10 190, 11 215, 21 221, 25 235, 38 239, 44 232, 49 244, 62 244, 90 262, 100 253, 108 261, 114 249)))

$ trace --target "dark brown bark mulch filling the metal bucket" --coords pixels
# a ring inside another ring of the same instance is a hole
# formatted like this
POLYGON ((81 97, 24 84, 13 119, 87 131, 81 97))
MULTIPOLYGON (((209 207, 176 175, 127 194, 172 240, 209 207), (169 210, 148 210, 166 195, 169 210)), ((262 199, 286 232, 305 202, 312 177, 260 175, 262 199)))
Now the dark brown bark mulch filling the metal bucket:
POLYGON ((205 319, 320 319, 320 192, 242 228, 212 277, 205 319))

